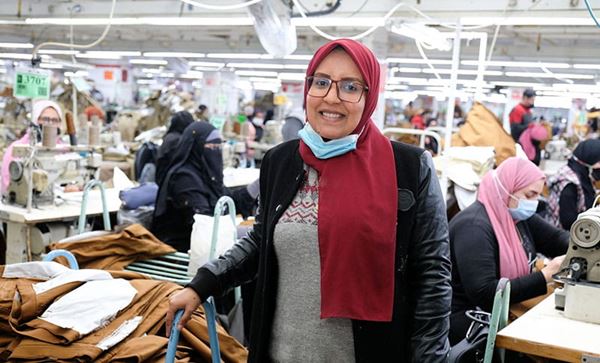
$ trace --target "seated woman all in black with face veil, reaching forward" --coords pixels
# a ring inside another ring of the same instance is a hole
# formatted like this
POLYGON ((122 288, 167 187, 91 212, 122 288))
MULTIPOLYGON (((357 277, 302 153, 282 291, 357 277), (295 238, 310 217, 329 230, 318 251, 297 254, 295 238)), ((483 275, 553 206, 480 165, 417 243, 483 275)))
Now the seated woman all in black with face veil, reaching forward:
POLYGON ((221 133, 207 122, 194 122, 183 132, 158 189, 152 233, 180 252, 190 248, 194 214, 213 215, 217 200, 233 198, 236 211, 251 214, 258 181, 235 192, 223 185, 221 133))

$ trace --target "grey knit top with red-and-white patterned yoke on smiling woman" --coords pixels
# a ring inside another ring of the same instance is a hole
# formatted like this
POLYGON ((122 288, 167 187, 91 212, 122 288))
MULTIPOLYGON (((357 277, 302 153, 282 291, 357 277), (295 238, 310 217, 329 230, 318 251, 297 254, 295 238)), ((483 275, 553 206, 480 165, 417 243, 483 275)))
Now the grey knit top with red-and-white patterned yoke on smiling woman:
POLYGON ((302 188, 275 226, 278 288, 270 356, 273 362, 354 362, 350 319, 321 319, 317 215, 319 175, 305 167, 302 188))

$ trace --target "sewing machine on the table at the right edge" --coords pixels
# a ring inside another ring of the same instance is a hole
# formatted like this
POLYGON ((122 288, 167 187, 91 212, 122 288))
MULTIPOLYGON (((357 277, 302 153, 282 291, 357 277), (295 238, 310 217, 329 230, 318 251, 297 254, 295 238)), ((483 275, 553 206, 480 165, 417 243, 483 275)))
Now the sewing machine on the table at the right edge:
POLYGON ((600 324, 600 207, 579 214, 555 290, 555 306, 567 318, 600 324))

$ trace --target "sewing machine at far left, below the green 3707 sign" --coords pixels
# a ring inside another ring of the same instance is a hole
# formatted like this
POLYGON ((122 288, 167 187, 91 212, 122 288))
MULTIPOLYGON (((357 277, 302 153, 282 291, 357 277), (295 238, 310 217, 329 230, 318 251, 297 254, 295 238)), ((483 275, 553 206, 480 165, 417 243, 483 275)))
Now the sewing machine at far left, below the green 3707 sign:
POLYGON ((54 204, 54 186, 83 185, 100 167, 102 156, 81 147, 44 148, 15 145, 14 160, 9 165, 10 181, 6 193, 9 204, 27 206, 31 190, 33 206, 54 204))

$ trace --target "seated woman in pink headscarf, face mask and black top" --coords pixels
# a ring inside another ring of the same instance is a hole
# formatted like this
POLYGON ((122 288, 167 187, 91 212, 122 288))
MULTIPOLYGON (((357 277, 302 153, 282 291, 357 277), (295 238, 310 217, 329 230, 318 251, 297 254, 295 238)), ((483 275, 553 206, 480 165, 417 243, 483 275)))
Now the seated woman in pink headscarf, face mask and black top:
POLYGON ((501 277, 510 279, 511 303, 547 293, 546 285, 567 251, 569 233, 535 213, 544 181, 544 173, 531 161, 508 158, 485 175, 477 201, 450 221, 451 345, 466 335, 466 310, 492 311, 501 277), (560 257, 532 272, 538 252, 560 257))

